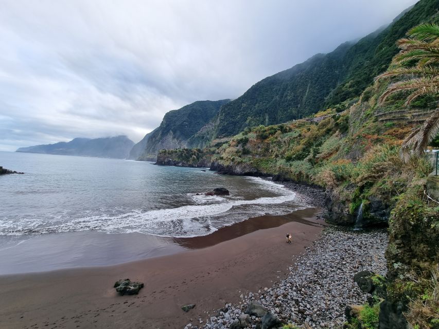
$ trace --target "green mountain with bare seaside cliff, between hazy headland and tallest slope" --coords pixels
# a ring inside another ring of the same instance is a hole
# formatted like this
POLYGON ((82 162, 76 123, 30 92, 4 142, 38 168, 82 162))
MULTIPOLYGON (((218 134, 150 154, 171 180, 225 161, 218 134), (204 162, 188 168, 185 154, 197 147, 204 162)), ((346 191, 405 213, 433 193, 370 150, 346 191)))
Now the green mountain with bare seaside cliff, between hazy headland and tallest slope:
POLYGON ((165 114, 162 123, 134 145, 133 156, 139 149, 139 160, 154 160, 157 152, 162 149, 197 148, 203 147, 208 140, 197 135, 203 127, 218 114, 222 105, 230 99, 219 101, 197 101, 174 109, 165 114))

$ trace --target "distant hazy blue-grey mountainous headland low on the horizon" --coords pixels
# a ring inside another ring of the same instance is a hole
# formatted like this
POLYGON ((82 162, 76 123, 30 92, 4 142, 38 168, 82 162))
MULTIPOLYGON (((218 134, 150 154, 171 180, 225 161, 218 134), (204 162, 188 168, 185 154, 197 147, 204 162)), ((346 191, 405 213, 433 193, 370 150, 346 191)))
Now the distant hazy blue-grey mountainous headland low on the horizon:
POLYGON ((36 145, 19 148, 15 152, 44 153, 60 155, 96 156, 102 158, 125 159, 129 156, 134 142, 127 136, 106 138, 75 138, 69 142, 36 145))

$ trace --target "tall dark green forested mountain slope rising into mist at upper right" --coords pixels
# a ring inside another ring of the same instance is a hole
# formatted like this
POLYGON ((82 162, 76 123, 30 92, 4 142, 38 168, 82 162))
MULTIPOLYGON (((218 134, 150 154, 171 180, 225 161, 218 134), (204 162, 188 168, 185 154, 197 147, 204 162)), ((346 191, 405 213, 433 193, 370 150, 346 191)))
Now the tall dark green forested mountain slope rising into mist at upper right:
POLYGON ((438 8, 437 0, 421 0, 388 27, 259 81, 221 108, 216 137, 233 136, 245 127, 308 116, 359 97, 373 78, 387 69, 398 51, 396 40, 411 27, 431 21, 438 8))

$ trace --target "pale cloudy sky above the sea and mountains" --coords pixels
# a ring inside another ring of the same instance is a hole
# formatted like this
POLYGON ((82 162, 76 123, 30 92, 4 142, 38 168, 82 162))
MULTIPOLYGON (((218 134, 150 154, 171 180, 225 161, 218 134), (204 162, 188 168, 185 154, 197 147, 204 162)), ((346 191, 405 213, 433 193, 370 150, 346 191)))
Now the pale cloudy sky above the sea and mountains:
POLYGON ((416 0, 0 0, 0 151, 127 135, 389 24, 416 0))

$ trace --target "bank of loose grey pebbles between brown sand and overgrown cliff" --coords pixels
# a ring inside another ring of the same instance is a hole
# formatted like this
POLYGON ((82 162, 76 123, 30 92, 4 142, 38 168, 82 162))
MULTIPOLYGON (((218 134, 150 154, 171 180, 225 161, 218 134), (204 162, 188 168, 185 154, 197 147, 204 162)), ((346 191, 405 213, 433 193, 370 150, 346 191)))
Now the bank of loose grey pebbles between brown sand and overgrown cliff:
POLYGON ((354 282, 354 275, 361 270, 385 274, 387 240, 385 230, 327 228, 305 252, 292 259, 286 278, 279 278, 272 287, 242 292, 239 304, 206 312, 205 319, 186 327, 271 328, 278 326, 273 322, 276 317, 298 327, 339 328, 346 320, 346 305, 366 302, 367 294, 354 282), (265 311, 256 315, 253 303, 265 311), (262 316, 267 311, 268 316, 262 316))

